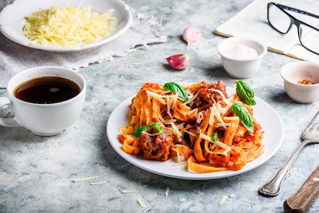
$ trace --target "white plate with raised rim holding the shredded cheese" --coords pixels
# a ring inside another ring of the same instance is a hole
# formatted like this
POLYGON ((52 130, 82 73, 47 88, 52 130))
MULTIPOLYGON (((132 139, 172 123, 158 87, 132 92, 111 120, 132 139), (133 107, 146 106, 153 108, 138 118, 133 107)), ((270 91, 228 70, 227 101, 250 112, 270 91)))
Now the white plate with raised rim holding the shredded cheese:
POLYGON ((6 37, 24 46, 50 52, 77 52, 105 44, 122 35, 129 28, 131 22, 132 13, 129 7, 121 0, 16 0, 0 12, 0 31, 6 37), (79 4, 80 2, 81 4, 79 4), (117 22, 115 26, 119 27, 110 37, 81 46, 60 47, 31 43, 30 40, 22 34, 23 26, 26 23, 24 17, 54 5, 79 5, 80 7, 88 7, 91 5, 92 10, 100 13, 114 9, 115 11, 112 16, 116 16, 117 22))

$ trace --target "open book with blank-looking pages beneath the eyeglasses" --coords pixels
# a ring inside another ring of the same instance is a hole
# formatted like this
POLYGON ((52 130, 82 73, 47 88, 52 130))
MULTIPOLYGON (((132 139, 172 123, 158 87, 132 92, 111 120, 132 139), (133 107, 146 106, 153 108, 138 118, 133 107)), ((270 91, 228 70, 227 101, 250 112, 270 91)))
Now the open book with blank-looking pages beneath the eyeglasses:
MULTIPOLYGON (((300 44, 295 25, 287 34, 280 34, 270 26, 267 20, 267 4, 270 2, 272 1, 253 1, 242 11, 220 25, 214 31, 214 34, 225 37, 238 36, 256 39, 267 45, 270 51, 300 60, 319 62, 319 55, 307 50, 300 44)), ((319 1, 317 0, 282 0, 274 1, 274 3, 319 15, 319 1)), ((319 19, 317 18, 295 12, 287 12, 316 28, 319 26, 319 19)))

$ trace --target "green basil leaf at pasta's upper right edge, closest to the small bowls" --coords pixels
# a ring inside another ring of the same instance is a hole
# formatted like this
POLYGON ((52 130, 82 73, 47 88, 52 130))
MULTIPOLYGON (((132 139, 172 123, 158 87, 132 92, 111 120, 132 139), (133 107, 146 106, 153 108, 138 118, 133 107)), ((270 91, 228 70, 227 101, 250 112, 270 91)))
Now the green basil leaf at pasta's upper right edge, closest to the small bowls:
POLYGON ((236 83, 236 94, 243 103, 248 105, 255 105, 254 91, 253 89, 244 81, 237 81, 236 83))

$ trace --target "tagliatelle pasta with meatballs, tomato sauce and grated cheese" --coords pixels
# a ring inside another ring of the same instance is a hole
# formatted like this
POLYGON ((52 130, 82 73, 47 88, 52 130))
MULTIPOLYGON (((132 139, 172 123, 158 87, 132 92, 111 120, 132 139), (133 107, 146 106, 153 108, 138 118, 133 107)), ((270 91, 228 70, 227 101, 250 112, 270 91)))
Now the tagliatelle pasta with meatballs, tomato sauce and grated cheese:
POLYGON ((264 132, 253 117, 253 109, 236 93, 228 95, 223 81, 182 88, 187 99, 164 85, 143 84, 132 98, 128 126, 118 135, 123 151, 154 161, 183 156, 188 170, 198 173, 240 170, 264 152, 264 132), (249 114, 252 130, 233 107, 244 108, 240 112, 249 114))

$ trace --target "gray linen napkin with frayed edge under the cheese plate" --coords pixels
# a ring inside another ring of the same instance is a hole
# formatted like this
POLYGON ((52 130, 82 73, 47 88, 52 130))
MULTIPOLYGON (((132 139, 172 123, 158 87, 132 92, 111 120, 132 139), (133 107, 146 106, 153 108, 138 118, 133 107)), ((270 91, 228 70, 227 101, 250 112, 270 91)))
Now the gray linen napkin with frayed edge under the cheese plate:
MULTIPOLYGON (((0 10, 13 0, 0 1, 0 10)), ((152 17, 144 17, 133 9, 130 28, 119 38, 80 52, 54 53, 17 44, 0 33, 0 88, 5 88, 16 73, 38 66, 59 66, 75 71, 92 63, 112 61, 113 57, 123 57, 138 46, 166 42, 167 36, 159 35, 160 22, 152 17)))

